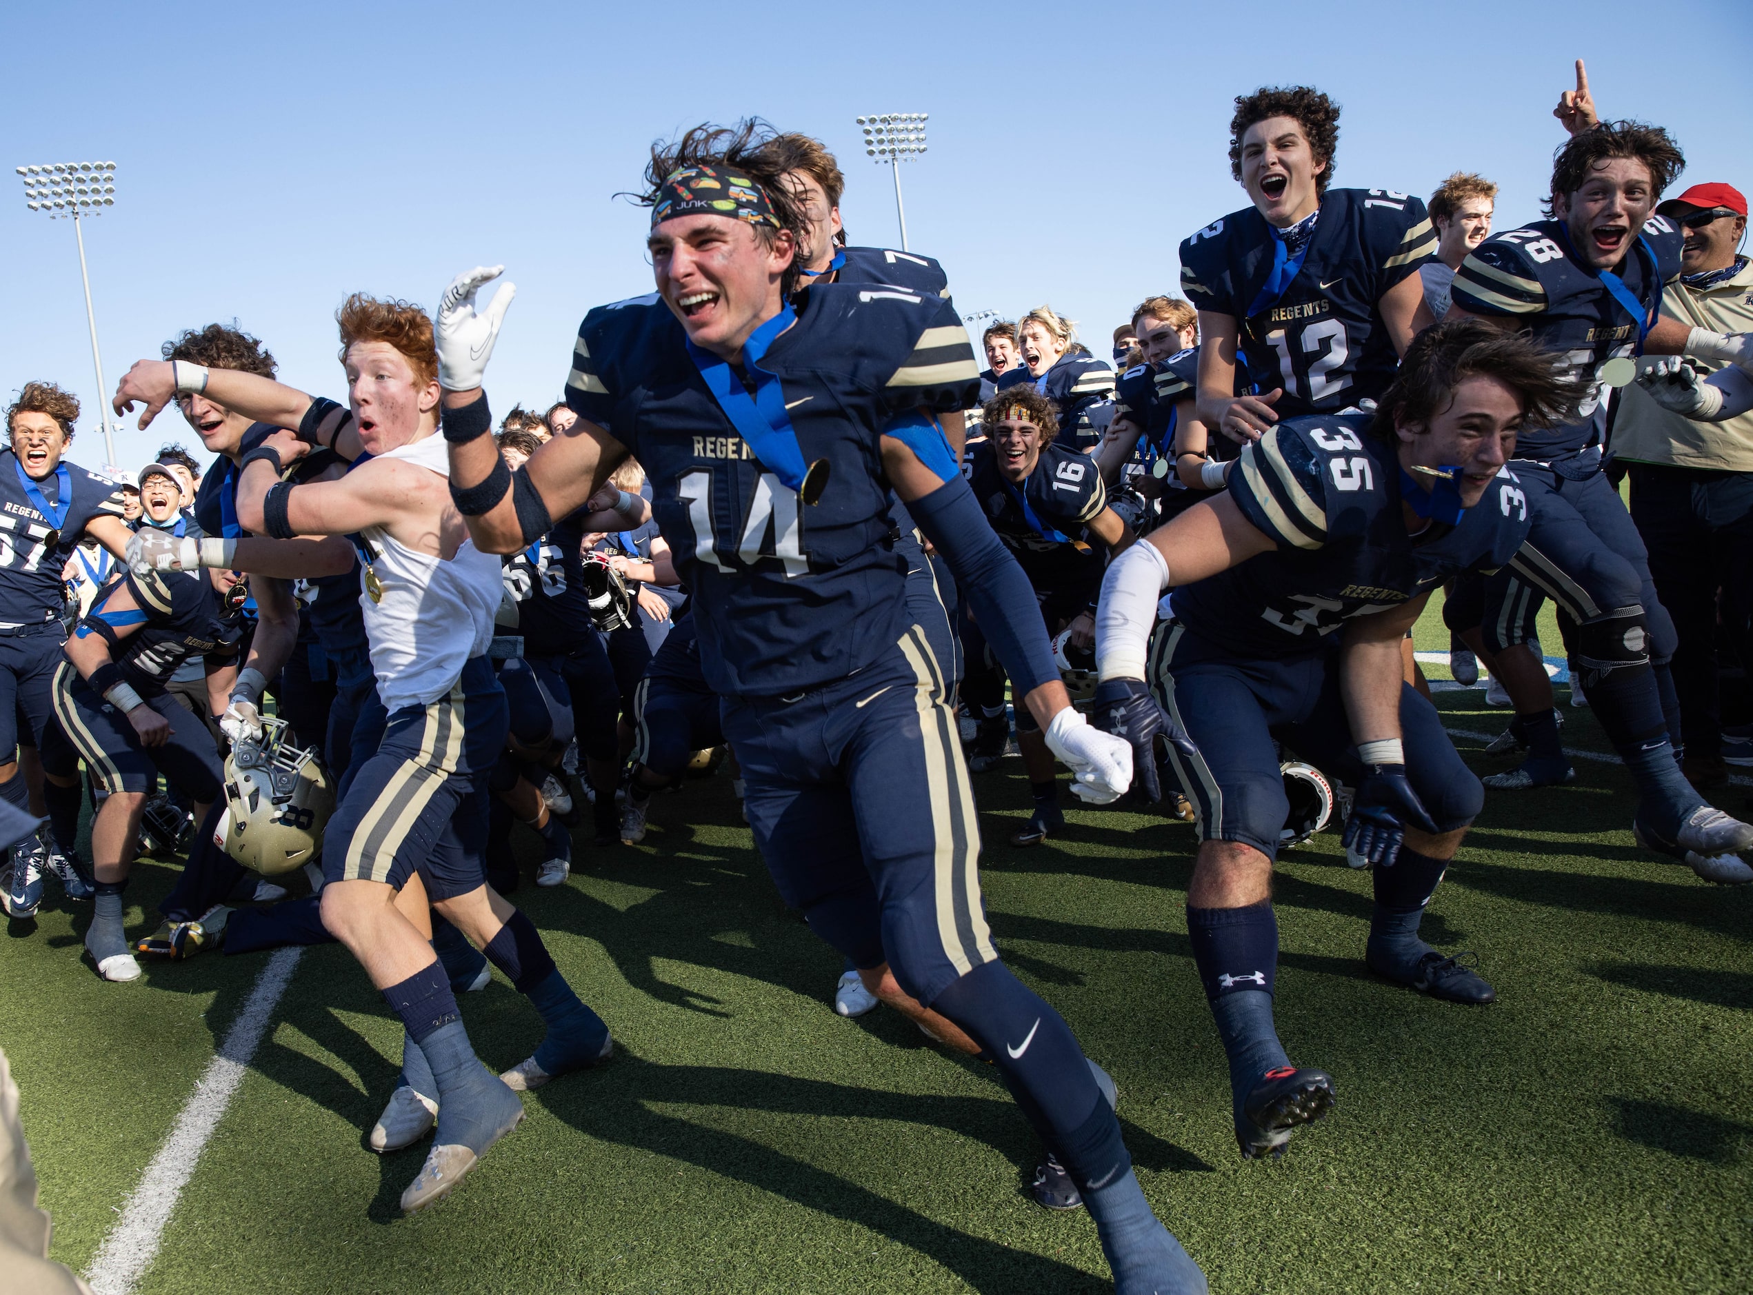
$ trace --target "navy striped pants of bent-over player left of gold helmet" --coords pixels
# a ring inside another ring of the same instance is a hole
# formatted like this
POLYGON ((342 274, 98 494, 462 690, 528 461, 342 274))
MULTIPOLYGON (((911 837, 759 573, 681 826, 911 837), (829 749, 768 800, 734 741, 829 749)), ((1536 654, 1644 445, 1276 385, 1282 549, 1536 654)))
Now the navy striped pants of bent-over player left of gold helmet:
POLYGON ((145 699, 170 720, 170 738, 163 747, 142 747, 126 713, 93 692, 65 659, 54 675, 53 696, 61 729, 103 790, 151 792, 158 787, 158 775, 165 775, 193 801, 210 804, 219 797, 224 766, 214 734, 175 697, 158 694, 145 699))

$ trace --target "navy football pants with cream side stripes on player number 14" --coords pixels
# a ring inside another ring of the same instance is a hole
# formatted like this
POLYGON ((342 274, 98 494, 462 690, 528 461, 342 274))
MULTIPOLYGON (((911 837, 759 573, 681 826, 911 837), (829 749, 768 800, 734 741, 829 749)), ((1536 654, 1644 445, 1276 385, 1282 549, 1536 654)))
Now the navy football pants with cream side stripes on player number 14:
POLYGON ((756 846, 817 934, 927 1006, 997 960, 948 680, 919 626, 848 678, 722 713, 756 846))

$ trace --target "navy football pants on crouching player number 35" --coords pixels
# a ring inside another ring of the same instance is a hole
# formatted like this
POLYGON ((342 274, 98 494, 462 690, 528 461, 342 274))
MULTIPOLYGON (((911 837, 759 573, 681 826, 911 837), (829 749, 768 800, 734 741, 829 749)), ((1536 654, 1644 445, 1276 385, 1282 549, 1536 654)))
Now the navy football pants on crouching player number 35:
MULTIPOLYGON (((1192 761, 1173 748, 1171 755, 1199 815, 1201 841, 1236 841, 1278 857, 1290 801, 1274 743, 1350 787, 1364 780, 1339 696, 1338 652, 1238 661, 1171 620, 1152 641, 1150 678, 1157 701, 1199 747, 1192 761)), ((1436 706, 1409 685, 1401 685, 1401 741, 1406 775, 1437 831, 1471 824, 1485 789, 1455 752, 1436 706)))

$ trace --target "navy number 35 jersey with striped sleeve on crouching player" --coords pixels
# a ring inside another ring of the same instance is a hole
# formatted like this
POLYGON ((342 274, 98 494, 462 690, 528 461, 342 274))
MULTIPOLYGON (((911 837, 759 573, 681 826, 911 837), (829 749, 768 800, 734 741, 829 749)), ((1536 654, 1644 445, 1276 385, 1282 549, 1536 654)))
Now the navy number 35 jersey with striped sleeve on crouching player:
POLYGON ((1229 494, 1280 547, 1176 589, 1176 620, 1239 657, 1302 655, 1332 647, 1350 617, 1515 556, 1529 533, 1515 477, 1501 471, 1458 526, 1409 536, 1394 447, 1367 426, 1366 415, 1295 419, 1243 449, 1229 494))

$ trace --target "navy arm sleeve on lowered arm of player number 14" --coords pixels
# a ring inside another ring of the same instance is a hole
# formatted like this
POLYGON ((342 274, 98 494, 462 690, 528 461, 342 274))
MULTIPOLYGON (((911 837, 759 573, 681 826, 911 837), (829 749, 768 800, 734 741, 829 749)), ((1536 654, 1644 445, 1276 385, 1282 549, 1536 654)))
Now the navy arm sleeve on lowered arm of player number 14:
POLYGON ((1010 675, 1015 697, 1059 678, 1047 622, 1029 578, 987 524, 961 477, 906 505, 920 534, 943 554, 980 633, 1010 675))

